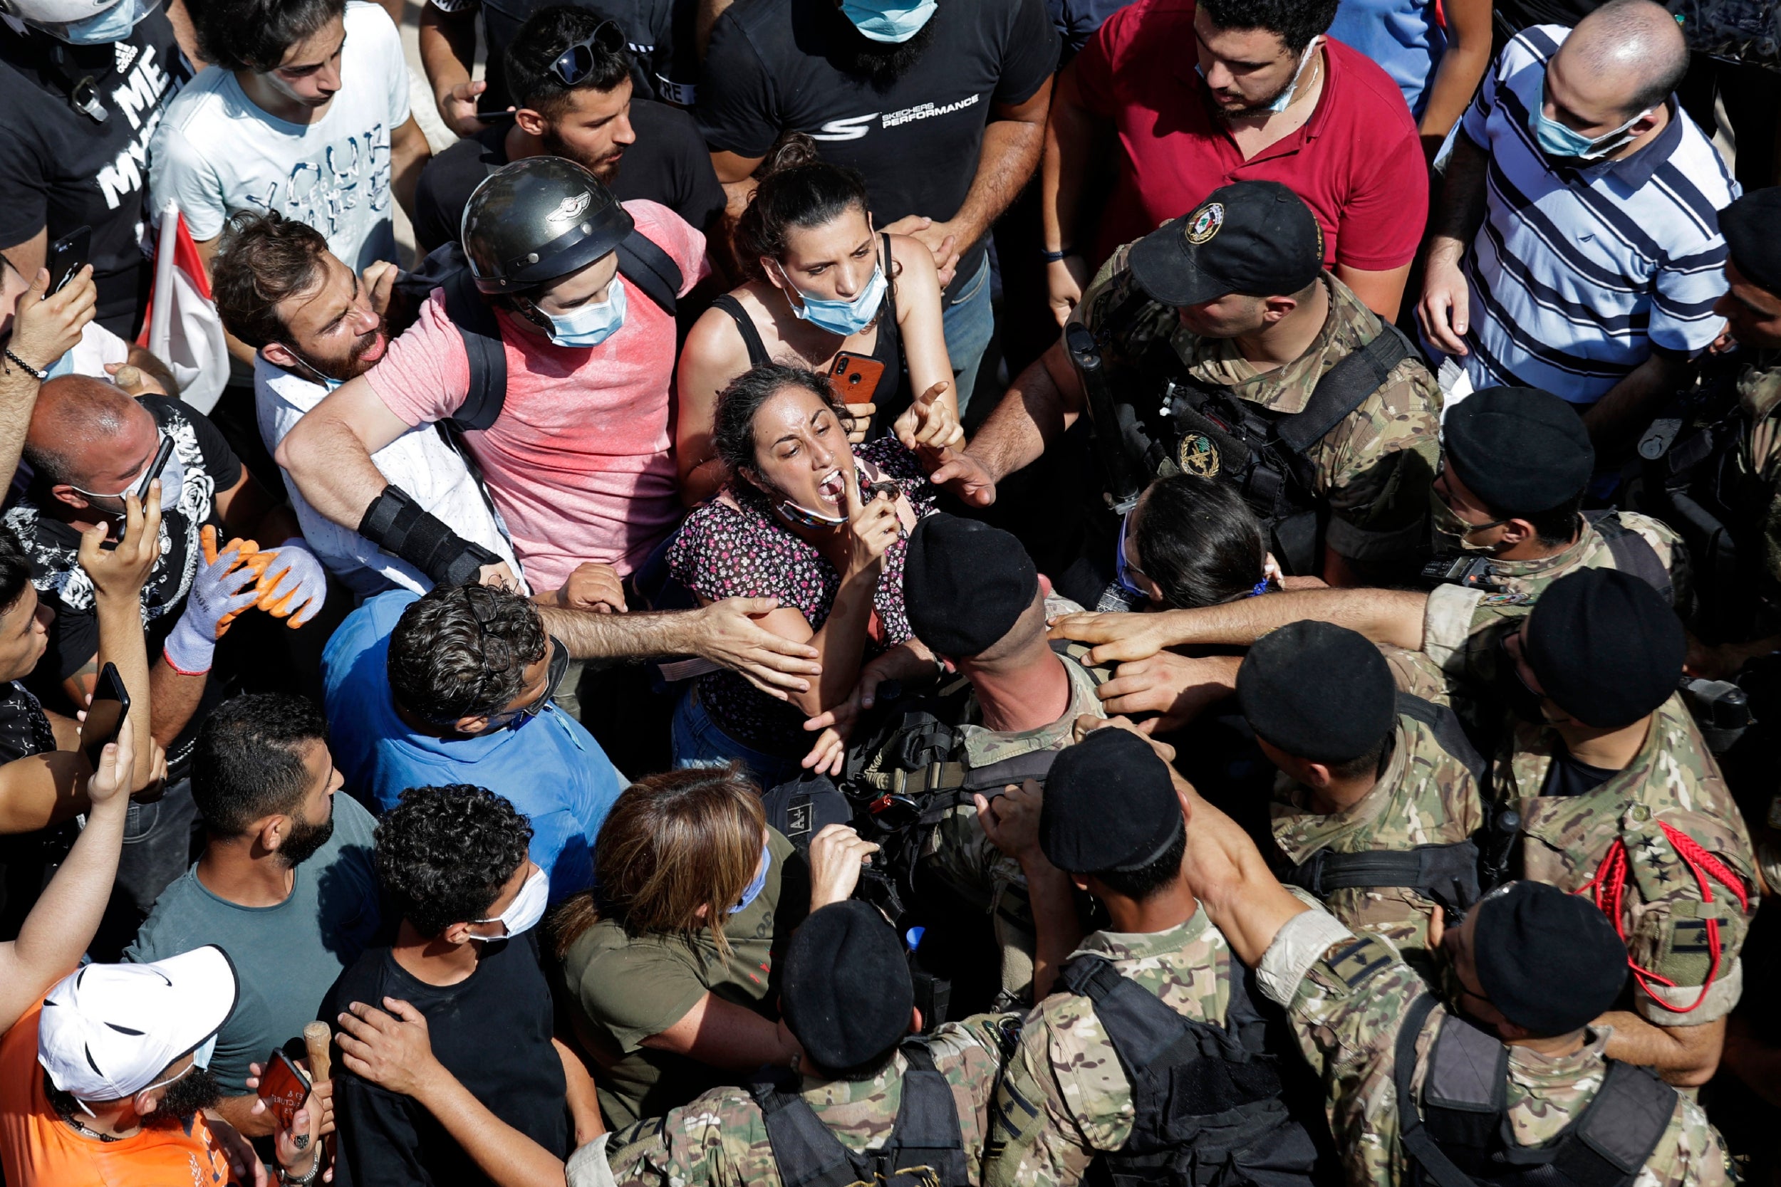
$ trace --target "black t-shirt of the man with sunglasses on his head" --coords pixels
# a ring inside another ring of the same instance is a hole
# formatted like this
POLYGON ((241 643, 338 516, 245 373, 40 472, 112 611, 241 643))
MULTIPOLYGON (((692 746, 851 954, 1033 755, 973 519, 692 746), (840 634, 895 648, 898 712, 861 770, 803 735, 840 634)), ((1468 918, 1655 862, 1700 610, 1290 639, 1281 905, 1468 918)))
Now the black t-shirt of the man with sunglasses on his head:
MULTIPOLYGON (((458 141, 427 162, 415 187, 415 242, 426 254, 458 238, 470 192, 492 169, 508 164, 508 130, 500 119, 470 139, 458 141)), ((630 128, 638 142, 625 149, 613 178, 618 201, 657 201, 702 231, 723 214, 723 187, 711 153, 698 139, 693 117, 654 100, 630 100, 630 128)))

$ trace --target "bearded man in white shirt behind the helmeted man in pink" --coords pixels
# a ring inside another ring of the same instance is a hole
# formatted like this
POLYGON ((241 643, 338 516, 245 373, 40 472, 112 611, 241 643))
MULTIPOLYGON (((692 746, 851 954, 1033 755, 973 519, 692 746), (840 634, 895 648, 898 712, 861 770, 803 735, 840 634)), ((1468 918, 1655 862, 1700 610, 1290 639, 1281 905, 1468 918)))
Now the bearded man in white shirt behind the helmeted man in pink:
MULTIPOLYGON (((372 263, 363 278, 342 263, 321 231, 278 214, 240 214, 212 265, 212 294, 223 326, 256 349, 253 365, 260 436, 276 450, 290 427, 344 381, 383 358, 390 336, 383 311, 395 267, 372 263)), ((419 425, 372 457, 422 511, 493 552, 513 573, 513 545, 463 457, 433 429, 419 425)), ((328 569, 362 598, 388 589, 426 593, 433 580, 408 561, 349 527, 319 514, 290 475, 290 505, 303 536, 328 569)))

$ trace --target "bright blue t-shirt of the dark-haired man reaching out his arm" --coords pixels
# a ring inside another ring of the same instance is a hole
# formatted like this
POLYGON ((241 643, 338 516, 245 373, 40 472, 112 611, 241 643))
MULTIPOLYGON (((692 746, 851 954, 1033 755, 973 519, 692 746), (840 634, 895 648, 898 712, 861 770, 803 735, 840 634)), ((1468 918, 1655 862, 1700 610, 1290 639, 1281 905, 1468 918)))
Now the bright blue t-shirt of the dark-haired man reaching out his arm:
POLYGON ((349 790, 386 812, 410 787, 470 783, 506 795, 533 822, 531 858, 550 877, 550 902, 593 884, 593 838, 623 779, 568 714, 547 705, 518 728, 477 737, 415 733, 395 715, 390 632, 419 594, 370 598, 322 651, 328 746, 349 790))

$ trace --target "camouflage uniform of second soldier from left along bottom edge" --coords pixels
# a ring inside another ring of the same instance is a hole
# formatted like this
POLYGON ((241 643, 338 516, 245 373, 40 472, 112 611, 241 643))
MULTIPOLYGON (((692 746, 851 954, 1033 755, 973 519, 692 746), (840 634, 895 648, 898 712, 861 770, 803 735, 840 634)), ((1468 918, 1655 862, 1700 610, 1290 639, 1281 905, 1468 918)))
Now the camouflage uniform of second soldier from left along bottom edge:
MULTIPOLYGON (((1097 931, 1078 952, 1113 966, 1199 1021, 1224 1025, 1231 1004, 1232 957, 1206 911, 1151 934, 1097 931)), ((1136 1110, 1131 1082, 1086 997, 1053 993, 1021 1029, 996 1093, 985 1187, 1069 1187, 1097 1151, 1131 1137, 1136 1110)))

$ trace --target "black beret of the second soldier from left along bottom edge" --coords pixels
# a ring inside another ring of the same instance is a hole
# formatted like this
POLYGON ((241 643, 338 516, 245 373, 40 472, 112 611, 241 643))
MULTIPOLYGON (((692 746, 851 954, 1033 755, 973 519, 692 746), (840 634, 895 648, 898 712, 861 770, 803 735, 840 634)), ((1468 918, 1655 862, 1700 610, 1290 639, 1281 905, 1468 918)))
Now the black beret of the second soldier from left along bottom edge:
POLYGON ((1038 847, 1065 874, 1142 870, 1183 828, 1168 763, 1126 730, 1095 730, 1045 774, 1038 847))

